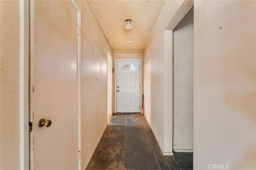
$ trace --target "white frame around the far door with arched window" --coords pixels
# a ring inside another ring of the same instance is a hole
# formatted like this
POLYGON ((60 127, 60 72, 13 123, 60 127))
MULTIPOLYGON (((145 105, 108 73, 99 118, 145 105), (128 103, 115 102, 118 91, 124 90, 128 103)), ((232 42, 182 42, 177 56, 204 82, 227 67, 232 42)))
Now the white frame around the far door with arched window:
POLYGON ((117 103, 116 103, 116 91, 117 91, 117 88, 116 88, 116 63, 117 61, 140 61, 140 109, 142 109, 142 106, 141 106, 141 103, 142 103, 142 71, 141 71, 141 68, 142 68, 142 59, 115 59, 115 113, 116 113, 116 108, 117 108, 117 103))

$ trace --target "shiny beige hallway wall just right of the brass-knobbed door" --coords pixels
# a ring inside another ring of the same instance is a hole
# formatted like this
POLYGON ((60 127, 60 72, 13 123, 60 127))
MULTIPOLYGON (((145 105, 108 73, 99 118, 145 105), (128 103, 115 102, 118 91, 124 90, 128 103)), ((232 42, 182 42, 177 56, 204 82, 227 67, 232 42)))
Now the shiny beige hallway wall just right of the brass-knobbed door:
POLYGON ((108 41, 89 1, 76 1, 82 12, 82 168, 107 125, 108 41))

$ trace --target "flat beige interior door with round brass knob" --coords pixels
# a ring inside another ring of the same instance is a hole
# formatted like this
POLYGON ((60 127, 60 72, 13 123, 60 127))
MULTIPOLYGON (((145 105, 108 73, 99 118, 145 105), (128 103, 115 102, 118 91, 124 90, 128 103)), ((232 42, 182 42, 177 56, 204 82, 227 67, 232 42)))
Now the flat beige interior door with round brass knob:
POLYGON ((78 169, 77 28, 71 1, 34 1, 34 170, 78 169))

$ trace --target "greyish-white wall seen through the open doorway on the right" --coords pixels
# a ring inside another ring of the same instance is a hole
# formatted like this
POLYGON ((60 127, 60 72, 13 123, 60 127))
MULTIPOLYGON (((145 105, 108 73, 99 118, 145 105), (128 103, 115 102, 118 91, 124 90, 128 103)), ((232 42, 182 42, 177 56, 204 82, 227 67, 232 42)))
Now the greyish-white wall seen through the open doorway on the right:
POLYGON ((173 151, 193 152, 194 10, 173 30, 173 151))

